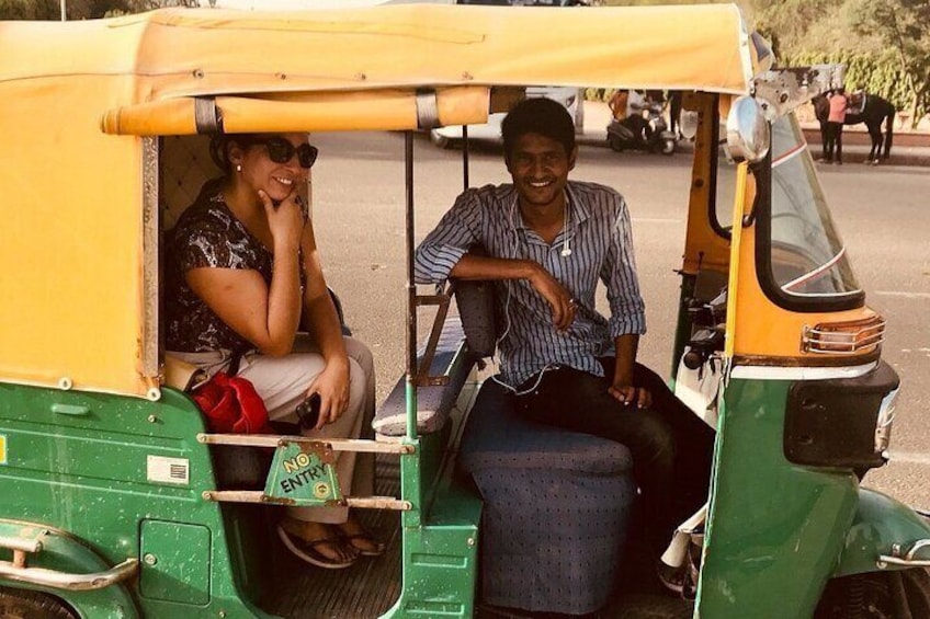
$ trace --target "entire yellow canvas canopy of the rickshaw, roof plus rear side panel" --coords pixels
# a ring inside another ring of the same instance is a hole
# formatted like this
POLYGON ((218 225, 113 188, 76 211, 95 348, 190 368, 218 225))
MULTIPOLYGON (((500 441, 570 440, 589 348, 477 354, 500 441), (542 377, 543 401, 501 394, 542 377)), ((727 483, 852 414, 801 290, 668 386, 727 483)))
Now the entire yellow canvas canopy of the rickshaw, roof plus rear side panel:
POLYGON ((205 111, 227 131, 415 128, 423 107, 474 123, 488 87, 744 93, 750 47, 727 5, 0 22, 0 381, 158 397, 158 179, 138 136, 204 130, 205 111))

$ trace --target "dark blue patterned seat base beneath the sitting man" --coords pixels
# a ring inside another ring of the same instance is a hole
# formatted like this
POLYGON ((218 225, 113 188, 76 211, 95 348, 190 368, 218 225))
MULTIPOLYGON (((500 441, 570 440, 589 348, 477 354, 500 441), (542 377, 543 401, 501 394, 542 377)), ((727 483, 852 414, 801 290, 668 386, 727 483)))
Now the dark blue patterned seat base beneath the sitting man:
POLYGON ((630 450, 526 422, 485 381, 460 444, 481 494, 481 596, 535 612, 585 615, 616 582, 636 484, 630 450))

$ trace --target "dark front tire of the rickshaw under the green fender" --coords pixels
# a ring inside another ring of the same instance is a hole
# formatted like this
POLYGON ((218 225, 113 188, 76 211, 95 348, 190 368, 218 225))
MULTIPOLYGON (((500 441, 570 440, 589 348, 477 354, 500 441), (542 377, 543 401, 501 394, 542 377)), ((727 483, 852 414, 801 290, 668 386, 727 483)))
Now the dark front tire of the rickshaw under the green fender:
POLYGON ((827 583, 814 619, 925 619, 930 574, 922 568, 870 572, 827 583))

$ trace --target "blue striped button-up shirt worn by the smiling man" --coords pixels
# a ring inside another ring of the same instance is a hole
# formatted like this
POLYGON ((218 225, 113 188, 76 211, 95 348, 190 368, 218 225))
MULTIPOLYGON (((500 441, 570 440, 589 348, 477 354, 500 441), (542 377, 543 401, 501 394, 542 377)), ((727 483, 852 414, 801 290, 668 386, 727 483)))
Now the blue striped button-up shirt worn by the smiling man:
POLYGON ((560 332, 551 306, 528 280, 495 283, 498 336, 507 330, 498 344, 503 379, 514 387, 554 365, 602 376, 597 358, 614 354, 614 337, 646 332, 626 203, 593 183, 570 181, 566 193, 567 226, 552 243, 523 223, 517 190, 504 184, 465 191, 417 248, 419 284, 445 282, 477 244, 494 257, 537 262, 577 299, 575 321, 560 332), (571 254, 563 256, 566 239, 571 254), (599 279, 608 289, 610 320, 594 309, 599 279))

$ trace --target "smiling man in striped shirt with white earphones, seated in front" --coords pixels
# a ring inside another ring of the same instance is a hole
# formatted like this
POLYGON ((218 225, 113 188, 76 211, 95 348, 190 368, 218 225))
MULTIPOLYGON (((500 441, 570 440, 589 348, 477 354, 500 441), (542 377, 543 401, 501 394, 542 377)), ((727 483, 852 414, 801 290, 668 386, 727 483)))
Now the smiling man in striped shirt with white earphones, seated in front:
POLYGON ((703 467, 710 474, 713 434, 635 363, 646 320, 630 214, 614 190, 568 180, 578 157, 569 114, 530 99, 501 130, 512 183, 458 196, 417 249, 417 280, 496 283, 503 324, 495 380, 526 419, 630 448, 658 553, 706 498, 706 478, 684 483, 676 471, 703 467), (483 252, 469 252, 474 247, 483 252), (594 307, 599 280, 610 319, 594 307))

